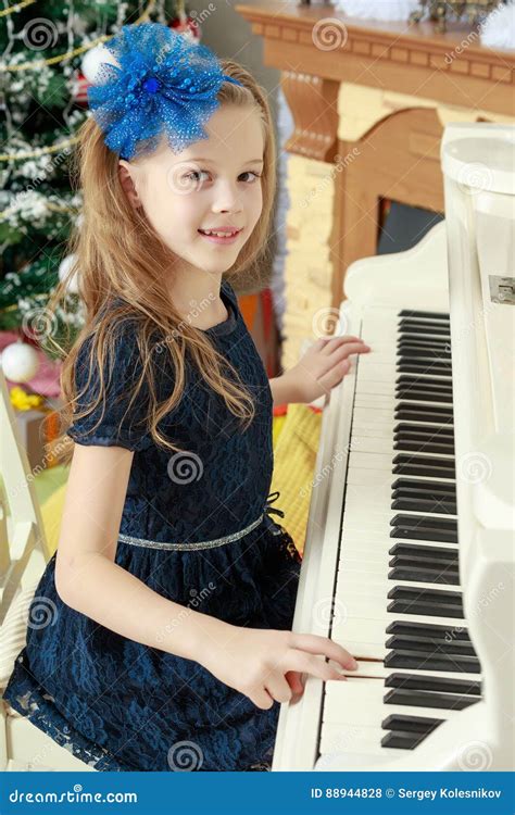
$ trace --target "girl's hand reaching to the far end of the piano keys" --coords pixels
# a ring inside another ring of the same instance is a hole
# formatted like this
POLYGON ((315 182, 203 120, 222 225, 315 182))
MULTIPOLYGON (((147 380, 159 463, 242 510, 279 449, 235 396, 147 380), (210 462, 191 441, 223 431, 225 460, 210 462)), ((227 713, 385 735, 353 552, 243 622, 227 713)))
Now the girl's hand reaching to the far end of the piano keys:
POLYGON ((330 337, 318 339, 300 362, 282 374, 291 387, 296 402, 312 402, 329 393, 349 373, 351 354, 368 353, 369 346, 360 337, 330 337))

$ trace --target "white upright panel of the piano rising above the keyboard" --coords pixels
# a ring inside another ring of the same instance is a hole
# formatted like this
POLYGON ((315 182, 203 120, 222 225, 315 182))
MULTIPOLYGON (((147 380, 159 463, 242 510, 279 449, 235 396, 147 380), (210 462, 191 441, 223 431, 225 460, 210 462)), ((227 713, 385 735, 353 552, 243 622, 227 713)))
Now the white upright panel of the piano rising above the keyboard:
POLYGON ((456 456, 468 481, 468 499, 462 487, 462 507, 473 506, 487 528, 510 529, 515 446, 515 128, 450 124, 441 159, 456 456), (470 462, 477 473, 467 471, 470 462))

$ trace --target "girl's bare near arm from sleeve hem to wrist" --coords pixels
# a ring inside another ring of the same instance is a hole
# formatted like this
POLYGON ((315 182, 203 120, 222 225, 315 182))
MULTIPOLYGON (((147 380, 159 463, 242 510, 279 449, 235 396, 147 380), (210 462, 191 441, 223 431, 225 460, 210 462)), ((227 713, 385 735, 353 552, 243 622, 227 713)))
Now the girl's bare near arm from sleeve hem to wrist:
POLYGON ((75 611, 151 648, 200 661, 224 629, 163 598, 114 563, 134 452, 76 444, 55 561, 55 587, 75 611))

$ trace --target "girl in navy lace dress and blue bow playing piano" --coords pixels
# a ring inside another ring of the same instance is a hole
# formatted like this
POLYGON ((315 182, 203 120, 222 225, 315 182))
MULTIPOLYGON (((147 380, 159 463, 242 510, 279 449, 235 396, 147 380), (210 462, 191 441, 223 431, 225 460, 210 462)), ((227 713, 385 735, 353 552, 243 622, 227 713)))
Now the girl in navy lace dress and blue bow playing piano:
POLYGON ((268 381, 222 280, 255 269, 268 236, 263 91, 166 26, 108 47, 79 140, 76 444, 4 699, 99 770, 266 769, 301 675, 355 667, 291 631, 300 556, 271 517, 272 406, 328 392, 367 347, 318 340, 268 381))

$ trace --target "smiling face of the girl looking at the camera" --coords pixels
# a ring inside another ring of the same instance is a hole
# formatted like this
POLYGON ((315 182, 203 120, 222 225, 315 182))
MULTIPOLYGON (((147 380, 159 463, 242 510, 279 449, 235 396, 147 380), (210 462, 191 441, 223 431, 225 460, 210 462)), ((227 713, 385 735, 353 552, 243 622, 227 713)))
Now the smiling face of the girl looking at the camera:
POLYGON ((147 217, 180 261, 222 274, 249 240, 263 206, 260 174, 264 136, 258 110, 221 105, 204 126, 209 136, 174 153, 163 137, 154 152, 120 161, 121 181, 134 206, 147 217), (239 230, 209 238, 204 230, 239 230))

